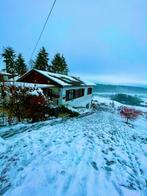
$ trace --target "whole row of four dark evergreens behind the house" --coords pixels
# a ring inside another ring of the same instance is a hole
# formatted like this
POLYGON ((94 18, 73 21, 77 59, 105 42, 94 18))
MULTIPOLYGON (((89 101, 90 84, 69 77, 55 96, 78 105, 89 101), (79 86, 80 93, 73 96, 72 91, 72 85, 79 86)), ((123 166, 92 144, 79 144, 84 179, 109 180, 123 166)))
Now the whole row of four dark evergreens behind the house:
MULTIPOLYGON (((16 55, 13 48, 7 47, 1 54, 5 63, 5 70, 11 73, 12 76, 23 75, 28 70, 25 59, 21 53, 16 55)), ((34 61, 31 62, 31 67, 43 71, 50 71, 60 74, 68 74, 68 65, 63 55, 55 54, 54 58, 49 63, 49 54, 44 47, 40 49, 34 61)))

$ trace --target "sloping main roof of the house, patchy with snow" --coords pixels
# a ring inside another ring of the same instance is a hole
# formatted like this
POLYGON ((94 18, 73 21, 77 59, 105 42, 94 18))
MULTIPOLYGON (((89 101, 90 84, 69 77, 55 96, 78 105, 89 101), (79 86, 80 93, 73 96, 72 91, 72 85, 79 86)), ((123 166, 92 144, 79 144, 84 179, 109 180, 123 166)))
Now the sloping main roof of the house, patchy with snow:
POLYGON ((63 74, 52 73, 52 72, 42 71, 38 69, 34 69, 34 70, 46 76, 47 78, 57 82, 59 85, 62 85, 62 86, 71 86, 71 85, 77 85, 77 84, 78 85, 90 85, 90 86, 95 85, 92 82, 80 80, 80 78, 78 77, 67 76, 63 74))

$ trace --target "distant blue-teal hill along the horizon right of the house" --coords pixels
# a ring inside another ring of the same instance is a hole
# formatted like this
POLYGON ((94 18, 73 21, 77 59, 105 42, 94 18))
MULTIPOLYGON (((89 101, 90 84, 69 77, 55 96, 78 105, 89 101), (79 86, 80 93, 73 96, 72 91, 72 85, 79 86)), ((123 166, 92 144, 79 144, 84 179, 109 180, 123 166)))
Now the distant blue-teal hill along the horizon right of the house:
POLYGON ((123 85, 109 85, 109 84, 97 84, 95 86, 95 92, 99 93, 143 93, 147 94, 147 88, 135 87, 135 86, 123 86, 123 85))

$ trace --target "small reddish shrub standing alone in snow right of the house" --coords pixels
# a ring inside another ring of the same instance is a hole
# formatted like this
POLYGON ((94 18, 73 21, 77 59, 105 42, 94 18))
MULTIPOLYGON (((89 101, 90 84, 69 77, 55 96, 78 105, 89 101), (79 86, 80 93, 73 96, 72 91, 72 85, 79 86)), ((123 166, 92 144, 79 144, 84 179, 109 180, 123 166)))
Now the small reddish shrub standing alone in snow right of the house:
POLYGON ((127 123, 129 120, 135 120, 141 114, 142 114, 141 111, 128 107, 123 107, 120 110, 120 115, 126 119, 127 123))

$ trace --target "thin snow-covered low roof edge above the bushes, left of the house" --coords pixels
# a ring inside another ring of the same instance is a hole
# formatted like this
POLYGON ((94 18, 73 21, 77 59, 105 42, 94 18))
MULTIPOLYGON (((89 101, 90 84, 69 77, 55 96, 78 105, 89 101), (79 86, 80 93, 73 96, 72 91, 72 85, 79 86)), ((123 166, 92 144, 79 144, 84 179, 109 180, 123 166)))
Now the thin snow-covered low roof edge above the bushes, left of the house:
POLYGON ((37 83, 26 83, 26 82, 6 82, 7 86, 16 86, 16 87, 26 87, 26 88, 48 88, 54 87, 55 85, 49 84, 37 84, 37 83))

